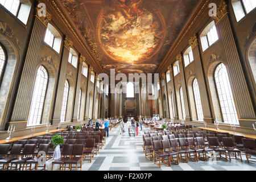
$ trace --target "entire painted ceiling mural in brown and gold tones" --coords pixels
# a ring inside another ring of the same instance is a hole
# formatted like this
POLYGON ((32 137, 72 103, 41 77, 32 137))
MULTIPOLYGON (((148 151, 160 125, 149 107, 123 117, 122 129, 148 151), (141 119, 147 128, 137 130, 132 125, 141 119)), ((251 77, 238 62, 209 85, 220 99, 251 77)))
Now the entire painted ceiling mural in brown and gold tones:
POLYGON ((106 73, 154 73, 199 0, 63 0, 106 73))

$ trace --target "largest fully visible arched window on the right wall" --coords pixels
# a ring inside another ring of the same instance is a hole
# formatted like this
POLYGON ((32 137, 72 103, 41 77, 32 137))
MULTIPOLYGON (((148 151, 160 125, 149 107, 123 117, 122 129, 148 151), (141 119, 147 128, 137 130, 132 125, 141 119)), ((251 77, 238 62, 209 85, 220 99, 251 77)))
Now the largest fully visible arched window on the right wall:
POLYGON ((228 72, 223 63, 216 67, 214 72, 214 81, 218 93, 218 101, 221 107, 223 122, 238 125, 237 111, 234 105, 228 72))

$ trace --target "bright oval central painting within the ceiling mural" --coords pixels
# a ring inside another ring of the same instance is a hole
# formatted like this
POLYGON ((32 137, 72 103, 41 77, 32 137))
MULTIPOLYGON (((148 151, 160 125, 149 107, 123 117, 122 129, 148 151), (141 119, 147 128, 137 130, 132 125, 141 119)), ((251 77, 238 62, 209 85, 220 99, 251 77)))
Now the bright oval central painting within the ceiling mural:
POLYGON ((106 3, 97 18, 101 49, 115 61, 141 63, 159 52, 166 24, 159 11, 141 8, 142 0, 106 3))

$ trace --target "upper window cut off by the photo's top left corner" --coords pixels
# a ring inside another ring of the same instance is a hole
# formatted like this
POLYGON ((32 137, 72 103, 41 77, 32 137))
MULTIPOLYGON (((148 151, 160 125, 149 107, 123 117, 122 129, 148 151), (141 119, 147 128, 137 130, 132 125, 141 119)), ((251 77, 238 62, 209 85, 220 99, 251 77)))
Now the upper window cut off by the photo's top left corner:
POLYGON ((22 21, 22 23, 27 24, 31 9, 29 1, 28 3, 21 3, 19 0, 0 0, 0 4, 22 21))

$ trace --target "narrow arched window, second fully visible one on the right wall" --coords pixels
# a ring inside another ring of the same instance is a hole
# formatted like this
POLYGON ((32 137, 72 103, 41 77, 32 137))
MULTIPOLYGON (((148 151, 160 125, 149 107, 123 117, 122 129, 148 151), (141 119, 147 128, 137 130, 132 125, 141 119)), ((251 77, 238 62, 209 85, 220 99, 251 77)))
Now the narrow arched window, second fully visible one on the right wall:
POLYGON ((195 104, 196 104, 196 115, 198 121, 204 121, 204 115, 203 115, 203 109, 201 105, 201 98, 200 98, 200 92, 199 92, 199 86, 196 78, 193 80, 193 94, 195 98, 195 104))

